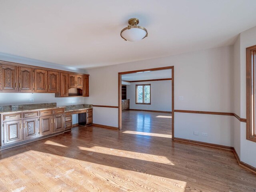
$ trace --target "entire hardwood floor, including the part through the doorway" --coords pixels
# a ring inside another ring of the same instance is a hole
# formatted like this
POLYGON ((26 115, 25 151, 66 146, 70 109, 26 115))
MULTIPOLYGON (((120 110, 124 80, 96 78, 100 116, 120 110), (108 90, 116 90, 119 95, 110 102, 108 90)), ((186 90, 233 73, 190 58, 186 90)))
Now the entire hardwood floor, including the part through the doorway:
POLYGON ((78 126, 0 151, 0 191, 256 191, 231 151, 171 140, 171 114, 124 111, 123 130, 78 126))

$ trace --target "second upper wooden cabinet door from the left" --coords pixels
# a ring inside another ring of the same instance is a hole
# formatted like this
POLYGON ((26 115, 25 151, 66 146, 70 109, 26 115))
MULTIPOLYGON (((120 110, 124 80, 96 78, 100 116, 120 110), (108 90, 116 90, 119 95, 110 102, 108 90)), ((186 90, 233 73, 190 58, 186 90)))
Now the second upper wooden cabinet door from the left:
POLYGON ((19 92, 34 92, 34 69, 18 67, 19 92))

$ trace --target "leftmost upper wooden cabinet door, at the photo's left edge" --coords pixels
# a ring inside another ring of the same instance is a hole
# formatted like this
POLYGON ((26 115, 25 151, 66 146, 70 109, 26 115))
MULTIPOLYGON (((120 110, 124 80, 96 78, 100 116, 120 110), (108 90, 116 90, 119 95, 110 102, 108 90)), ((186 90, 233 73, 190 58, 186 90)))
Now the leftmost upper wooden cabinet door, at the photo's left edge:
POLYGON ((17 92, 17 66, 0 64, 0 89, 3 92, 17 92))

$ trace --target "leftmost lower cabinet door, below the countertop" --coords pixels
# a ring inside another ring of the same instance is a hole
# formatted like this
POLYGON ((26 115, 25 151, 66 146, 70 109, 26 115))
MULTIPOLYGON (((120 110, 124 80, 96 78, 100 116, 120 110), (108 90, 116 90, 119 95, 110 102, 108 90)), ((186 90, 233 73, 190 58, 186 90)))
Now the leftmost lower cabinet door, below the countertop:
POLYGON ((22 140, 22 120, 4 122, 4 144, 22 140))

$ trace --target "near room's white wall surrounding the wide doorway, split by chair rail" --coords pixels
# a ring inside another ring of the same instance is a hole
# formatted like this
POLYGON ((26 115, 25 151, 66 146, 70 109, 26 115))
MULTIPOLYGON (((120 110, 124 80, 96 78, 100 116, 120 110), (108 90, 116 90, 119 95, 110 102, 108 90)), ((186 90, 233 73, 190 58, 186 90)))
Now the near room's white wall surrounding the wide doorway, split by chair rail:
MULTIPOLYGON (((233 46, 196 51, 164 58, 130 62, 102 68, 86 70, 90 74, 90 97, 86 103, 118 106, 118 72, 174 66, 174 108, 180 110, 202 110, 230 112, 232 106, 232 60, 233 46), (184 96, 183 101, 178 96, 184 96)), ((94 121, 100 121, 103 114, 111 113, 101 124, 118 126, 118 109, 94 108, 94 121)), ((231 146, 231 116, 206 115, 207 122, 201 121, 200 114, 186 114, 186 131, 184 114, 175 113, 176 137, 195 139, 193 131, 207 132, 208 137, 198 136, 199 141, 231 146), (221 128, 220 122, 225 125, 221 128), (211 126, 209 126, 211 124, 211 126), (218 131, 214 131, 214 130, 218 131)))

